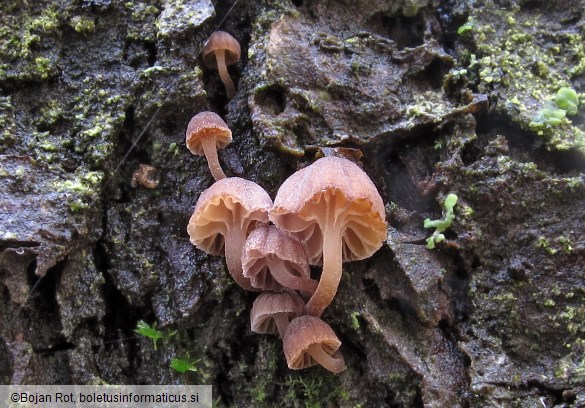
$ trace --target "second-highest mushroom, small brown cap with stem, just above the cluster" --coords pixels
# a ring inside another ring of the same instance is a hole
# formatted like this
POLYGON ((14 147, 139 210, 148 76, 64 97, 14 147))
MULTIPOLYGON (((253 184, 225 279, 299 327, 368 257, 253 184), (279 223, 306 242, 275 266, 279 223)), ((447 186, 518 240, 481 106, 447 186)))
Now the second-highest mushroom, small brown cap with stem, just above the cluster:
POLYGON ((217 150, 223 149, 232 141, 232 131, 219 115, 201 112, 193 116, 185 133, 187 148, 193 154, 207 158, 207 165, 215 180, 225 178, 219 164, 217 150))

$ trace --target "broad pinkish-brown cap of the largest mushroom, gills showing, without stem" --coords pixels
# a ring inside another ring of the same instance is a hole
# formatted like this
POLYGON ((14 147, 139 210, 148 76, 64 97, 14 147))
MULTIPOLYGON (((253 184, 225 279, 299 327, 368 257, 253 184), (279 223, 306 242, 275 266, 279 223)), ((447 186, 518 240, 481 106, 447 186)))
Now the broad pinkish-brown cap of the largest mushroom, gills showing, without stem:
POLYGON ((311 265, 322 263, 322 226, 328 217, 344 223, 344 262, 371 256, 386 238, 384 203, 376 186, 358 165, 341 157, 323 157, 290 176, 270 211, 278 228, 303 243, 311 265), (333 203, 333 214, 326 214, 326 200, 333 203))

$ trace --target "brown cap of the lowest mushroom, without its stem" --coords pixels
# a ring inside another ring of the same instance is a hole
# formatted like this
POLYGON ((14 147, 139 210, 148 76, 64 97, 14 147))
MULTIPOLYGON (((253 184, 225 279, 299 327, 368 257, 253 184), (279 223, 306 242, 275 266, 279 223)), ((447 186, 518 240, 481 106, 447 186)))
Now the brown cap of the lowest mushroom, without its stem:
POLYGON ((309 347, 313 345, 320 346, 325 353, 334 358, 341 358, 341 355, 336 353, 341 341, 331 326, 315 316, 300 316, 293 319, 286 329, 282 345, 288 368, 292 370, 318 364, 308 352, 309 347))

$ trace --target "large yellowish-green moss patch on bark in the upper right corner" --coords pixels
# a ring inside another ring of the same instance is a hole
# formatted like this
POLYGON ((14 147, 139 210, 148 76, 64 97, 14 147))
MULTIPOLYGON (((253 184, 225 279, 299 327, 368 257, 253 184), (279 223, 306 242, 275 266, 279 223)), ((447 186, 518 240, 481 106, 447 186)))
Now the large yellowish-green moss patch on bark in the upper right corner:
POLYGON ((583 34, 550 31, 546 16, 519 13, 518 7, 471 11, 474 29, 468 35, 476 50, 466 65, 479 91, 497 94, 506 101, 497 104, 497 109, 536 132, 548 148, 585 152, 585 133, 564 118, 559 105, 549 104, 540 111, 543 101, 552 100, 551 95, 559 89, 561 105, 565 106, 567 99, 574 101, 574 95, 565 90, 585 66, 583 34))

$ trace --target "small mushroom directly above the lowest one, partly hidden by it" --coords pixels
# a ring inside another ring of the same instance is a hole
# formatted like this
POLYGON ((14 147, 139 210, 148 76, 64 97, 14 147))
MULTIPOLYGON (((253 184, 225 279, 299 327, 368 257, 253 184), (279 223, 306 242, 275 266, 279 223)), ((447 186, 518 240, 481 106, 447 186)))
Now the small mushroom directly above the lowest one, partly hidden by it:
POLYGON ((305 302, 292 292, 262 292, 252 305, 250 328, 256 333, 284 336, 289 322, 303 313, 305 302))

